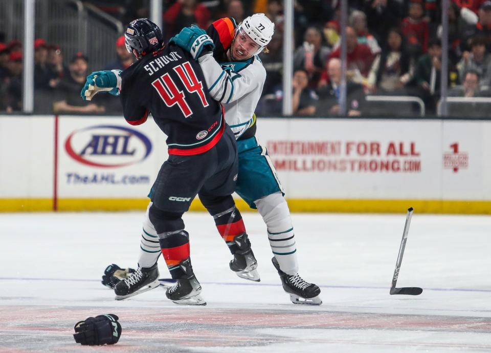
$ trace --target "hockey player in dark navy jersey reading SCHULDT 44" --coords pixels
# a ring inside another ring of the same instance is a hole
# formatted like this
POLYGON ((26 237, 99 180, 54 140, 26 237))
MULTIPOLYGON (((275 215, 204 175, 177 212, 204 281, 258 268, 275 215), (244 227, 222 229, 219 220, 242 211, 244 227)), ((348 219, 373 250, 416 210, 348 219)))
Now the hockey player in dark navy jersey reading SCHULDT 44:
MULTIPOLYGON (((205 47, 212 49, 214 45, 211 39, 203 41, 192 54, 173 44, 165 46, 160 28, 146 18, 128 25, 125 44, 137 57, 136 63, 122 72, 92 73, 81 95, 84 99, 102 91, 120 95, 126 121, 141 124, 150 112, 168 136, 169 158, 152 186, 142 238, 152 244, 153 252, 162 251, 172 278, 177 280, 166 296, 178 304, 205 305, 191 266, 189 234, 182 219, 196 195, 217 227, 237 232, 230 245, 237 253, 232 263, 240 267, 251 253, 231 196, 238 168, 235 137, 194 60, 205 47), (249 252, 243 251, 244 246, 249 252)), ((116 284, 116 299, 158 286, 158 277, 156 262, 148 267, 139 264, 135 273, 116 284)))

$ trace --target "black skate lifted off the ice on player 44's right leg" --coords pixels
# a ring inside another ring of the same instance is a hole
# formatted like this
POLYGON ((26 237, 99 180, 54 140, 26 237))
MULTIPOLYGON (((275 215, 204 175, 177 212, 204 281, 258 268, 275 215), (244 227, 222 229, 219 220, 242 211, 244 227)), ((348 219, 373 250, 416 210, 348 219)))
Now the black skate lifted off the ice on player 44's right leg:
POLYGON ((234 259, 230 261, 230 269, 240 278, 259 282, 261 279, 256 269, 257 261, 247 234, 242 233, 236 236, 234 243, 239 247, 239 250, 234 254, 234 259))

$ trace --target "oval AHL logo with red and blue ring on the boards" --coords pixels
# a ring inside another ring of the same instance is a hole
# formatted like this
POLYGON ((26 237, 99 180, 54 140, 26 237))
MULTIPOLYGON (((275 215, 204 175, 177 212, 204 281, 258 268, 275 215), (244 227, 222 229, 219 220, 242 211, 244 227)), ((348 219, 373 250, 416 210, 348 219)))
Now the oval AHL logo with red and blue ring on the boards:
POLYGON ((73 131, 65 140, 65 150, 79 163, 117 168, 142 162, 152 151, 152 143, 130 128, 97 125, 73 131))

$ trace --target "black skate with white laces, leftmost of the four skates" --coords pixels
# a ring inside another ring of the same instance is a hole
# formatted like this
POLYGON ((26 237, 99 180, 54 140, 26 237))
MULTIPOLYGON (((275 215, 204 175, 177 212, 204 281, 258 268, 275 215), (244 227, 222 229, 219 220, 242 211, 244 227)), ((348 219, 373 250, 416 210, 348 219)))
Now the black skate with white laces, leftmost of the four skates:
POLYGON ((116 300, 123 300, 137 294, 147 292, 147 290, 157 288, 159 282, 159 268, 157 263, 152 267, 138 268, 135 273, 121 282, 118 282, 114 287, 116 300))

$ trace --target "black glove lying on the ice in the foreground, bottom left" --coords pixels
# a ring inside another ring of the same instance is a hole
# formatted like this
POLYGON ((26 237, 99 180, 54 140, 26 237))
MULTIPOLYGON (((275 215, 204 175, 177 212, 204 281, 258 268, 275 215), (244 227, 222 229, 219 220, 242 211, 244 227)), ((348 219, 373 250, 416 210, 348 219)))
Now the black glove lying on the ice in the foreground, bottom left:
POLYGON ((86 318, 75 324, 75 342, 81 345, 100 346, 115 344, 121 337, 121 325, 114 314, 86 318))

